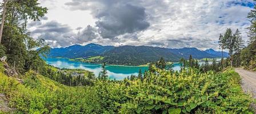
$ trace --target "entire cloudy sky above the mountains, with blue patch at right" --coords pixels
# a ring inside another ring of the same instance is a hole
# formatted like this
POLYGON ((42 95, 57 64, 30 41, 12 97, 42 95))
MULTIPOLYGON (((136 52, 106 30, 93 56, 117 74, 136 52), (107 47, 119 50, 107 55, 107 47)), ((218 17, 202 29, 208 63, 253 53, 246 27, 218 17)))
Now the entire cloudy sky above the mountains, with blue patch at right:
POLYGON ((48 13, 31 35, 51 47, 98 43, 218 49, 219 34, 239 29, 247 40, 248 0, 39 0, 48 13))

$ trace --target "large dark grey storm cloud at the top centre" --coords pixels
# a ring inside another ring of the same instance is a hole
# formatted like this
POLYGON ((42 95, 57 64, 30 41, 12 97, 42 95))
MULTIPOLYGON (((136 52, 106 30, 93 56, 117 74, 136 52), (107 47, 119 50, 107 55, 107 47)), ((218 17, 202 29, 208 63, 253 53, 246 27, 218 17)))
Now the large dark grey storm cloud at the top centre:
POLYGON ((150 26, 146 21, 145 8, 127 1, 73 0, 66 5, 71 10, 90 10, 98 19, 95 24, 103 38, 115 38, 118 35, 145 30, 150 26))

